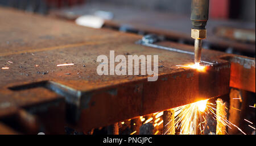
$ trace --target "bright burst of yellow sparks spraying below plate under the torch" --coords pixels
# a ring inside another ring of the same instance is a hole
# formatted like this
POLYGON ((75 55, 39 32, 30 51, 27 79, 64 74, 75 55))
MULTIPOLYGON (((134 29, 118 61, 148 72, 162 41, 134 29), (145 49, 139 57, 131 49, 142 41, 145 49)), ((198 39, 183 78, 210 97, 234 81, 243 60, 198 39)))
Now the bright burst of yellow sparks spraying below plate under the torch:
POLYGON ((208 100, 191 103, 174 108, 175 127, 180 129, 180 135, 195 135, 197 130, 201 134, 204 132, 204 123, 206 122, 204 114, 212 114, 212 118, 219 120, 224 126, 231 129, 230 126, 236 127, 242 134, 246 135, 239 127, 223 118, 223 115, 216 115, 216 104, 209 103, 208 100))

